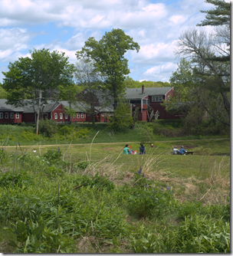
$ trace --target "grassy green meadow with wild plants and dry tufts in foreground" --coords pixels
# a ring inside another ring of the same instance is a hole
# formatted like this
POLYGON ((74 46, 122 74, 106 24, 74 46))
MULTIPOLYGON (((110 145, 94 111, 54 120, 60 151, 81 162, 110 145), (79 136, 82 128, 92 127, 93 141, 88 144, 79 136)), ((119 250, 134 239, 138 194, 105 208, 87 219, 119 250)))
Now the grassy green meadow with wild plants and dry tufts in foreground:
POLYGON ((139 134, 107 143, 108 133, 2 143, 1 252, 230 252, 229 138, 160 138, 123 155, 129 142, 139 150, 139 134))

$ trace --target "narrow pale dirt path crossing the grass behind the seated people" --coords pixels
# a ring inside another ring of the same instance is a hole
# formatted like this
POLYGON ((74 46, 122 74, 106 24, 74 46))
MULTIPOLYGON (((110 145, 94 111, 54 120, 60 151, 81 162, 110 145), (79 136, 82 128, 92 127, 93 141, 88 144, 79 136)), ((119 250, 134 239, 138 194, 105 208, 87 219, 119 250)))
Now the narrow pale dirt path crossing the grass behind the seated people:
MULTIPOLYGON (((222 139, 230 139, 230 138, 222 138, 222 139)), ((176 143, 182 141, 185 143, 186 141, 203 141, 203 140, 221 140, 221 139, 179 139, 179 140, 159 140, 159 141, 154 141, 153 143, 176 143)), ((141 143, 140 141, 133 141, 133 142, 124 142, 124 143, 93 143, 95 145, 103 145, 103 144, 133 144, 133 143, 141 143)), ((90 145, 91 143, 77 143, 77 144, 71 144, 72 146, 77 146, 77 145, 90 145)), ((41 146, 65 146, 65 145, 70 145, 70 143, 67 144, 52 144, 52 145, 41 145, 41 146)), ((40 146, 38 144, 34 145, 25 145, 25 146, 40 146)), ((24 146, 21 146, 24 147, 24 146)), ((4 146, 4 148, 15 148, 15 146, 4 146)))

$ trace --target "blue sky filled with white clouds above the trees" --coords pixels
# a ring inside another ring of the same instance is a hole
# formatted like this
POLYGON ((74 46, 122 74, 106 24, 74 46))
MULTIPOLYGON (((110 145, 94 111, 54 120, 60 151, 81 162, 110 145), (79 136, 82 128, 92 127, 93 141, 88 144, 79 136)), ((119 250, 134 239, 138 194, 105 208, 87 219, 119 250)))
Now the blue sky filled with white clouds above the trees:
MULTIPOLYGON (((88 38, 120 28, 140 46, 128 51, 133 80, 169 82, 176 71, 176 41, 205 19, 204 0, 0 0, 0 82, 9 62, 29 50, 62 51, 73 64, 88 38)), ((210 29, 205 27, 206 30, 210 29)))

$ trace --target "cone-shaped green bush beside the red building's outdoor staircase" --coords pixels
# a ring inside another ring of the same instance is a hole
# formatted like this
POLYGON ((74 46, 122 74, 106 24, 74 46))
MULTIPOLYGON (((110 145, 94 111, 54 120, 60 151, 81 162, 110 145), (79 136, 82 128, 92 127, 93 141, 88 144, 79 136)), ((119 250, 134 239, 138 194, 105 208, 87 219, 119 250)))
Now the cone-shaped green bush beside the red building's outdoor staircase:
POLYGON ((125 130, 133 125, 133 117, 130 113, 129 104, 120 100, 117 110, 114 112, 114 116, 110 117, 110 123, 107 128, 110 130, 125 130))

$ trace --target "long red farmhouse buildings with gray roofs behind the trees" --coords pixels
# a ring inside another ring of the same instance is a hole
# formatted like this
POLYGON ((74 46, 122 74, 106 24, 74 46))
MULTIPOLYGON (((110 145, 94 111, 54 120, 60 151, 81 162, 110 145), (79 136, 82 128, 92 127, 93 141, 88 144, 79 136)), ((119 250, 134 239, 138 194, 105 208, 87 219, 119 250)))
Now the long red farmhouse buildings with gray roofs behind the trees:
MULTIPOLYGON (((142 86, 142 88, 127 89, 124 97, 130 104, 132 114, 138 110, 138 120, 179 119, 182 117, 182 112, 166 113, 166 107, 161 106, 163 100, 169 100, 172 97, 173 91, 173 87, 145 88, 142 86)), ((91 122, 90 113, 87 113, 87 103, 81 101, 79 95, 77 94, 76 96, 77 103, 71 104, 71 108, 76 112, 73 117, 68 117, 67 113, 65 113, 65 108, 69 107, 68 101, 54 103, 52 100, 48 100, 41 107, 41 116, 55 120, 57 123, 91 122)), ((96 95, 93 95, 93 98, 95 121, 101 123, 108 122, 109 117, 114 113, 112 97, 103 96, 102 92, 98 91, 96 95)), ((6 102, 7 100, 0 100, 0 123, 36 122, 38 106, 31 106, 27 100, 25 100, 24 107, 14 107, 6 104, 6 102)))

